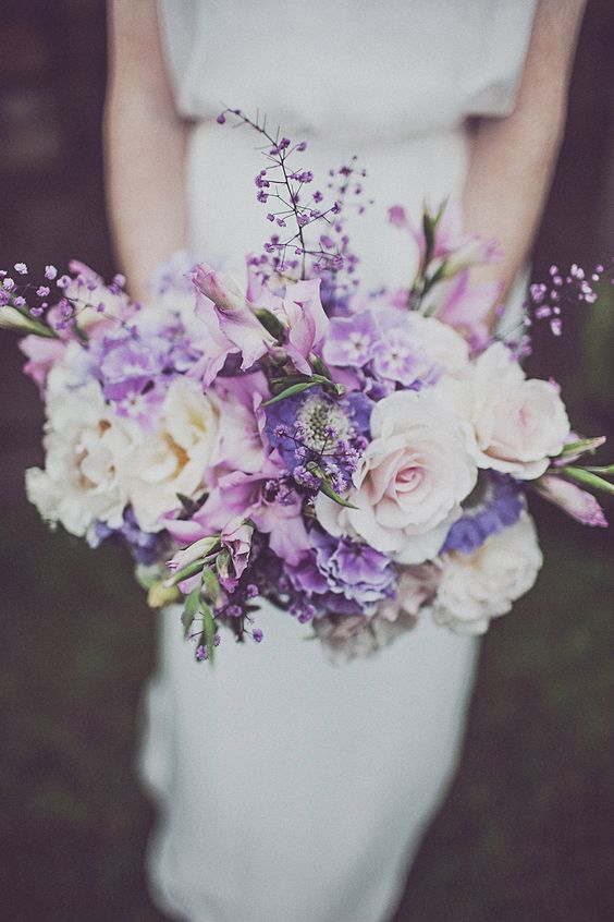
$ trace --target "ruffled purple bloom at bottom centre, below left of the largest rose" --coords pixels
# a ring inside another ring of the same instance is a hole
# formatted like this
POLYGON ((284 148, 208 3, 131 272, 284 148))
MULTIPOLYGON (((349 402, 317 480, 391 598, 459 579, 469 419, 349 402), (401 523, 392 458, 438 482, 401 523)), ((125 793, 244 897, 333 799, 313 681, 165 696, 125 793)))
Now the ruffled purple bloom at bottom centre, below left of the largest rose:
POLYGON ((309 541, 310 553, 287 570, 294 589, 317 614, 372 615, 379 602, 394 595, 397 572, 388 555, 318 526, 309 541))

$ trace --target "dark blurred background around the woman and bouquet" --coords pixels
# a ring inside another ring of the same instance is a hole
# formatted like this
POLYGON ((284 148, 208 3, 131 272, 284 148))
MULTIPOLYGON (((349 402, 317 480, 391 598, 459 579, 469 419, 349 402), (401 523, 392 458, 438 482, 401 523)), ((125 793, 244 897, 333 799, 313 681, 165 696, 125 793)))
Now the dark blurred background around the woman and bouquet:
MULTIPOLYGON (((74 255, 110 275, 103 2, 2 12, 0 265, 74 255)), ((538 279, 614 254, 613 49, 614 4, 589 0, 538 279)), ((562 339, 537 333, 530 371, 562 383, 590 434, 614 435, 613 347, 611 292, 568 315, 562 339)), ((9 336, 0 352, 0 918, 161 922, 142 870, 154 814, 133 773, 152 616, 121 554, 49 534, 27 506, 40 407, 9 336)), ((614 919, 614 541, 539 500, 533 512, 545 567, 486 639, 461 771, 395 922, 614 919)))

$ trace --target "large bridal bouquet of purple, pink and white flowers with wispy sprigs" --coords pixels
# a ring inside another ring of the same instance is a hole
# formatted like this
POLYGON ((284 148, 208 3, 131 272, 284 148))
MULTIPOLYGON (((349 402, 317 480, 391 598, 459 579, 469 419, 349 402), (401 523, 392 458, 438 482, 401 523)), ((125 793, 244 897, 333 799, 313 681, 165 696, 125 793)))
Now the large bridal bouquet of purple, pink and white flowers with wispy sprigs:
POLYGON ((183 600, 198 659, 220 626, 260 642, 261 598, 349 655, 425 617, 482 633, 542 562, 529 489, 606 524, 585 487, 613 493, 614 466, 580 463, 604 439, 575 434, 557 385, 519 360, 533 318, 558 333, 562 303, 590 303, 609 274, 553 268, 512 341, 503 307, 491 332, 496 289, 470 283, 496 247, 452 204, 418 226, 397 206, 418 271, 365 292, 344 220, 363 201, 356 161, 311 193, 291 167, 304 143, 226 119, 267 158, 256 194, 274 232, 246 288, 179 257, 146 307, 78 263, 39 282, 2 272, 0 324, 25 333, 47 417, 28 497, 91 546, 126 544, 150 604, 183 600))

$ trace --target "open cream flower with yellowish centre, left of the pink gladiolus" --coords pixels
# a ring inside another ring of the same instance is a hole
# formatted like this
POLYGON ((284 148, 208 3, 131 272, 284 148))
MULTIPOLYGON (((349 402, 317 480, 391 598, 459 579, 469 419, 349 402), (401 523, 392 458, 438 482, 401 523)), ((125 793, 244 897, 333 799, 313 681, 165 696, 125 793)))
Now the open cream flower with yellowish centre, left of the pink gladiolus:
POLYGON ((195 496, 206 488, 218 435, 218 409, 200 383, 176 378, 154 429, 134 445, 130 458, 126 489, 144 531, 164 527, 160 519, 177 508, 177 493, 195 496))

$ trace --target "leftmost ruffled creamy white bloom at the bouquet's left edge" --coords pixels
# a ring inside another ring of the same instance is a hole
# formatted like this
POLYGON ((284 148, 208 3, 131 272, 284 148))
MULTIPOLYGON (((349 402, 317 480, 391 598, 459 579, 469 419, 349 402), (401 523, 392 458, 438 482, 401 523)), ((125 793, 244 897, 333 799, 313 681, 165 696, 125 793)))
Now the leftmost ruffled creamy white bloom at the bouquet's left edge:
POLYGON ((50 522, 83 536, 97 520, 122 524, 128 428, 105 403, 100 386, 64 388, 65 369, 49 376, 45 470, 26 471, 28 499, 50 522))

